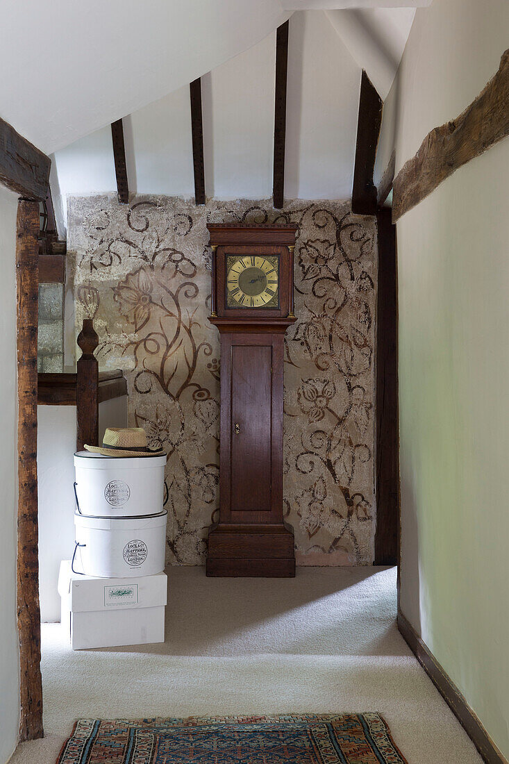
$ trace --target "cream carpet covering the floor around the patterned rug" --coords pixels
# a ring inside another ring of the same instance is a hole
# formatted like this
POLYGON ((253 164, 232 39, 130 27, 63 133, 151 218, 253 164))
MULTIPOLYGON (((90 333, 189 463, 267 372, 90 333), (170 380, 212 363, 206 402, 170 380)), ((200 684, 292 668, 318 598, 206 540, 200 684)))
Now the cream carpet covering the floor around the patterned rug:
POLYGON ((44 740, 55 764, 79 717, 378 711, 409 764, 478 764, 397 632, 395 568, 298 568, 294 579, 170 568, 163 645, 73 652, 43 625, 44 740))

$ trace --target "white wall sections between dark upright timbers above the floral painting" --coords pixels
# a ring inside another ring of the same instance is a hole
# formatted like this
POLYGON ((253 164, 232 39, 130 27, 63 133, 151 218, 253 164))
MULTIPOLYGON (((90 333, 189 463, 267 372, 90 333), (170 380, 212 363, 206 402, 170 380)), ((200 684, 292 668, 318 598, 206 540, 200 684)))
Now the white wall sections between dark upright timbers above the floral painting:
MULTIPOLYGON (((206 195, 272 195, 275 34, 202 78, 206 195)), ((323 11, 290 18, 287 83, 288 199, 352 193, 361 69, 323 11)), ((125 118, 131 192, 193 196, 189 86, 125 118)), ((115 191, 111 130, 55 154, 66 196, 115 191)), ((64 203, 65 208, 65 203, 64 203)))

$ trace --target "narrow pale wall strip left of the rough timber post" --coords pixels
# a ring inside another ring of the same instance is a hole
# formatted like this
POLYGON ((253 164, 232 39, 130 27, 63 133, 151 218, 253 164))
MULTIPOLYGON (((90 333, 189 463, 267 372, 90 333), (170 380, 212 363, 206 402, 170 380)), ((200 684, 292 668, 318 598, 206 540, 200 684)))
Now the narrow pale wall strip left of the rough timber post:
POLYGON ((19 657, 16 625, 18 497, 16 376, 16 214, 18 199, 0 186, 0 764, 18 743, 19 657))

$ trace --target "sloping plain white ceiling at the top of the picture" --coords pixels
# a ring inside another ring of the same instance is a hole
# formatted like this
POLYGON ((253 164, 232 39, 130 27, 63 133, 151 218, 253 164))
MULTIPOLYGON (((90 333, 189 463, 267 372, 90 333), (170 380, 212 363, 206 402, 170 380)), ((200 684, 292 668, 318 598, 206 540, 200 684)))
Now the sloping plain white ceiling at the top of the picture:
POLYGON ((0 116, 50 154, 187 86, 304 8, 328 9, 384 95, 400 58, 394 20, 430 2, 2 0, 0 116))

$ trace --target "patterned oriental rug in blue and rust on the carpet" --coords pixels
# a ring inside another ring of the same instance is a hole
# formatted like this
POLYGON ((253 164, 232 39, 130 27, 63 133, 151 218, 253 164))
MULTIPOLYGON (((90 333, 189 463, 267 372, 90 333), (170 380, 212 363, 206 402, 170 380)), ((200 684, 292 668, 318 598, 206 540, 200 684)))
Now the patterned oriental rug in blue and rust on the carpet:
POLYGON ((76 722, 57 764, 407 764, 379 714, 76 722))

